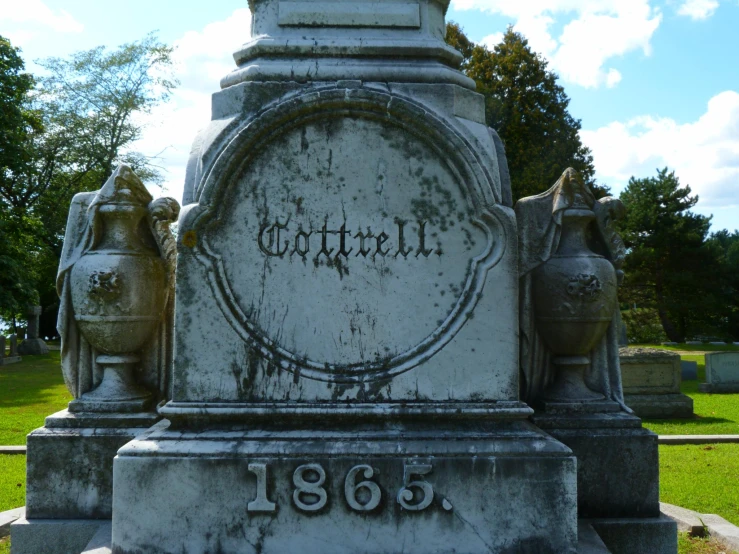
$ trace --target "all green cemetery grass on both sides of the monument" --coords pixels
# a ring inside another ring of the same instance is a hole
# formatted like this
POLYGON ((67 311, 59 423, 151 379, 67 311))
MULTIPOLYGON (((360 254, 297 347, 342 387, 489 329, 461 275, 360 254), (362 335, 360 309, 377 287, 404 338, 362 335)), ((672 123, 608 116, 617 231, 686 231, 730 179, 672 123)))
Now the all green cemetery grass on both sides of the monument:
MULTIPOLYGON (((739 435, 739 394, 698 391, 704 381, 703 353, 739 350, 735 346, 656 346, 698 362, 698 380, 684 381, 682 392, 693 398, 696 417, 687 420, 644 420, 661 435, 739 435)), ((26 435, 43 426, 44 418, 66 408, 71 396, 60 370, 59 352, 24 356, 17 364, 0 367, 0 445, 24 445, 26 435)), ((699 513, 718 514, 739 525, 739 444, 660 446, 660 499, 699 513)), ((23 505, 23 455, 0 455, 0 512, 23 505)), ((681 534, 680 554, 730 553, 710 539, 681 534)), ((0 539, 0 554, 9 553, 0 539)))

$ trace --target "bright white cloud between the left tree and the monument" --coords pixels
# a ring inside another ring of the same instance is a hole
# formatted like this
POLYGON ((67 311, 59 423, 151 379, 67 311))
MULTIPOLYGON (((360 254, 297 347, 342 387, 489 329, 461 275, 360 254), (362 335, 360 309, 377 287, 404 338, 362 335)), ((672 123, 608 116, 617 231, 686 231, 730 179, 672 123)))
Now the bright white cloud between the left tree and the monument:
MULTIPOLYGON (((160 154, 165 183, 160 193, 182 198, 185 167, 197 132, 210 121, 211 95, 222 77, 236 68, 233 53, 250 37, 251 13, 238 9, 225 21, 189 31, 175 41, 175 67, 180 86, 172 99, 141 122, 143 138, 132 149, 160 154)), ((156 191, 152 191, 156 193, 156 191)))

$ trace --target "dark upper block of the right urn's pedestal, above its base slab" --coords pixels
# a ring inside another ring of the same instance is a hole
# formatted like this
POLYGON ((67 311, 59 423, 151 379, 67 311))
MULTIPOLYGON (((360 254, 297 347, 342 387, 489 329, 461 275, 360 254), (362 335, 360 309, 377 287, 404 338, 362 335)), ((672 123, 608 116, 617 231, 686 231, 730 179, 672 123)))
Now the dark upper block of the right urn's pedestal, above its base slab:
MULTIPOLYGON (((534 423, 567 445, 577 457, 578 512, 581 518, 656 517, 659 515, 659 461, 657 435, 634 428, 634 416, 621 416, 622 428, 612 414, 593 418, 572 415, 537 415, 534 423), (626 421, 631 420, 631 424, 626 421)), ((607 541, 606 541, 607 544, 607 541)))

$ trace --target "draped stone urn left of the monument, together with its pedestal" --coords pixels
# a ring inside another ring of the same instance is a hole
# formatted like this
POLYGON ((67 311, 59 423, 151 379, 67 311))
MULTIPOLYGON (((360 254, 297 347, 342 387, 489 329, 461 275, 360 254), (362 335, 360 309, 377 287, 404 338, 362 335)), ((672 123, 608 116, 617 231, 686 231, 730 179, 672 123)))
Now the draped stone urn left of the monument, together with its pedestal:
POLYGON ((62 373, 75 397, 28 435, 13 553, 79 552, 111 517, 113 457, 160 418, 172 361, 179 206, 127 166, 74 197, 59 267, 62 373))

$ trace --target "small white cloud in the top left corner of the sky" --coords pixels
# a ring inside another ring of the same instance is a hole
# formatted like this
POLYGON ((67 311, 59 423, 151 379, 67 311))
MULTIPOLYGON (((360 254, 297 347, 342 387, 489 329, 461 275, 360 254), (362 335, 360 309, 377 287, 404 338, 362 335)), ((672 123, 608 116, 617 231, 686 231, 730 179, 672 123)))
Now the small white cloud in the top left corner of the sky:
POLYGON ((0 24, 8 29, 3 34, 10 36, 15 43, 30 40, 40 32, 39 29, 60 33, 81 33, 84 29, 84 25, 69 12, 53 10, 42 0, 3 2, 0 24))

